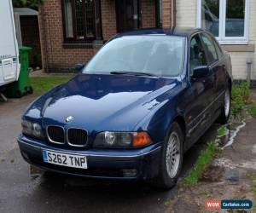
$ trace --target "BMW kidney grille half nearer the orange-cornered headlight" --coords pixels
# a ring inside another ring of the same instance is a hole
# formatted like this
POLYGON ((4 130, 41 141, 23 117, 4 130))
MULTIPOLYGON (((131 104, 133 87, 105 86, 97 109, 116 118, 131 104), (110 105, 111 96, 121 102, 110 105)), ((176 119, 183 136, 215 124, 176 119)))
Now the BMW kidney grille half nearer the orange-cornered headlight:
POLYGON ((67 130, 67 142, 74 147, 84 147, 87 142, 88 133, 83 129, 70 128, 67 130))

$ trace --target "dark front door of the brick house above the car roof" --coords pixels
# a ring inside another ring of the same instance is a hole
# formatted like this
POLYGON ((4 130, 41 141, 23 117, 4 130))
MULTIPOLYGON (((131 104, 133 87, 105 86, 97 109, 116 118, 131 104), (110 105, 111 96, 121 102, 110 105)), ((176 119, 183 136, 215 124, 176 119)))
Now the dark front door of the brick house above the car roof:
POLYGON ((139 0, 116 0, 116 19, 118 32, 139 28, 139 0))

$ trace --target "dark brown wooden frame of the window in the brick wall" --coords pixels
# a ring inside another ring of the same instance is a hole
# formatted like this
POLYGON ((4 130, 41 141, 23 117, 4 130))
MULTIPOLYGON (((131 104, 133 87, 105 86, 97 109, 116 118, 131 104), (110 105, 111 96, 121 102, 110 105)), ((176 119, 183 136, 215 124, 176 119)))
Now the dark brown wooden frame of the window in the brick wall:
POLYGON ((72 5, 72 22, 73 22, 73 37, 67 37, 67 26, 66 26, 66 13, 65 13, 65 0, 61 0, 61 11, 62 11, 62 26, 63 26, 63 43, 92 43, 95 40, 102 40, 102 31, 100 32, 100 35, 97 35, 97 29, 96 29, 96 1, 99 1, 99 19, 100 19, 100 25, 102 28, 102 15, 101 15, 101 1, 100 0, 92 0, 93 2, 93 11, 94 11, 94 21, 93 21, 93 31, 94 31, 94 37, 86 37, 86 12, 85 12, 85 0, 82 0, 82 9, 83 9, 83 26, 84 26, 84 38, 77 38, 77 23, 76 23, 76 12, 75 12, 75 1, 71 0, 72 5), (101 39, 99 39, 101 38, 101 39))

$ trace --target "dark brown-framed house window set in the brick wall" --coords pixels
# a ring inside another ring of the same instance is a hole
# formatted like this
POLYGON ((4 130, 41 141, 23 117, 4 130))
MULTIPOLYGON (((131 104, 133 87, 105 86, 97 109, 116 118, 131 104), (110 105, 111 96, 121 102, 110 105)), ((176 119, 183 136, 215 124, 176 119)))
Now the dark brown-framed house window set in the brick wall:
POLYGON ((64 42, 102 39, 100 0, 62 0, 64 42))

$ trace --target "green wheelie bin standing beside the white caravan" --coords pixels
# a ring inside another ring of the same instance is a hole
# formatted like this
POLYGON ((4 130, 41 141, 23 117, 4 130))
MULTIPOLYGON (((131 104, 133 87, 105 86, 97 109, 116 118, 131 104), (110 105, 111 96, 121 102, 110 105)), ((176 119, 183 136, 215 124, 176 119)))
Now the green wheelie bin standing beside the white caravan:
POLYGON ((32 94, 33 89, 30 83, 28 66, 29 54, 32 48, 21 46, 19 47, 20 53, 20 75, 18 81, 10 83, 7 88, 7 95, 13 98, 20 98, 26 94, 32 94))

